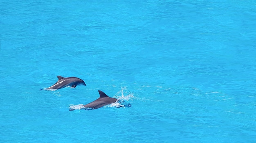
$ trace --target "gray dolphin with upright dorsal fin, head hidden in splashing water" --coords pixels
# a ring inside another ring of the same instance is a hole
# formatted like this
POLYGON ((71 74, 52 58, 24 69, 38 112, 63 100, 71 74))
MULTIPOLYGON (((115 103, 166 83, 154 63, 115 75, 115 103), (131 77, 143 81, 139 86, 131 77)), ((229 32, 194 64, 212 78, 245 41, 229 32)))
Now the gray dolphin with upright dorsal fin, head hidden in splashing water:
MULTIPOLYGON (((101 108, 102 106, 115 103, 117 101, 116 98, 110 98, 108 95, 106 95, 104 92, 99 90, 99 98, 97 100, 94 100, 91 103, 83 105, 85 108, 91 108, 91 109, 97 109, 101 108)), ((70 111, 73 111, 74 109, 70 109, 70 111)))

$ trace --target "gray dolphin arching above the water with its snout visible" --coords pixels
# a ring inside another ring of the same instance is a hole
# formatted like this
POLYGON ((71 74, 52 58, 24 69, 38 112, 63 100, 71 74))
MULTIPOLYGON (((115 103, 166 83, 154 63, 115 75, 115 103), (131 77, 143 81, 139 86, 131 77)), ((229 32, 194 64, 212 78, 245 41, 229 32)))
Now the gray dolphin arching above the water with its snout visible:
MULTIPOLYGON (((58 81, 51 87, 46 88, 46 90, 61 89, 67 86, 71 86, 75 88, 77 85, 85 85, 84 81, 81 80, 80 78, 76 78, 76 77, 63 78, 62 76, 57 76, 57 78, 58 78, 58 81)), ((40 90, 43 90, 43 89, 40 89, 40 90)))

